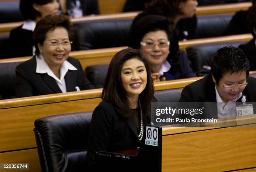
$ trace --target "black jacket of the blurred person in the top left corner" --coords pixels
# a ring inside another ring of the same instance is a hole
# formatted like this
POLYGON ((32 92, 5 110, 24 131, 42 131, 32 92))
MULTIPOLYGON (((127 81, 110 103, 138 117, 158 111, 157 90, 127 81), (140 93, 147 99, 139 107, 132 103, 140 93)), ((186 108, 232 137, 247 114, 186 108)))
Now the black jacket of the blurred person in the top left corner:
POLYGON ((33 32, 22 29, 21 26, 10 31, 10 57, 22 57, 33 55, 33 32))

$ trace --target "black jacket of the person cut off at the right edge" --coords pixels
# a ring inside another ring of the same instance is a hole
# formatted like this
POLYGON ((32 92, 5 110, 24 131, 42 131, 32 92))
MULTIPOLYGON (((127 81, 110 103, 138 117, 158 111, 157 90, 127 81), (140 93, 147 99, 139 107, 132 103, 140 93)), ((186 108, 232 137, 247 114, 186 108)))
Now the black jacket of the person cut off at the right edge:
POLYGON ((238 46, 245 53, 246 57, 250 61, 250 71, 256 71, 256 46, 255 39, 250 40, 246 44, 238 46))

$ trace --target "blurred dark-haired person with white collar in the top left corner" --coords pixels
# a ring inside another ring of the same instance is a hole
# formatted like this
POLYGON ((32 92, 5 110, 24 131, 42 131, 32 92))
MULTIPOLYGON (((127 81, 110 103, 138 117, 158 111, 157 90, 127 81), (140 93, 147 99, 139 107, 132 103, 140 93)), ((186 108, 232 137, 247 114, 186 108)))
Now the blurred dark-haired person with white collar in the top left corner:
POLYGON ((20 12, 25 22, 10 31, 10 57, 35 55, 32 37, 36 23, 46 15, 59 15, 59 2, 57 0, 20 0, 20 12))

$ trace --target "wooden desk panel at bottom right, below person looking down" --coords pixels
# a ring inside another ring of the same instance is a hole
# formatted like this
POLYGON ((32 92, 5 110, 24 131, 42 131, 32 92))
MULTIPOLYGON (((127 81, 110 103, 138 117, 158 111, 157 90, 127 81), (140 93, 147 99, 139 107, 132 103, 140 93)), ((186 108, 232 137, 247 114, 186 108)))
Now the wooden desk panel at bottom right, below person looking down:
POLYGON ((255 114, 229 119, 218 119, 218 122, 233 126, 236 121, 238 126, 163 127, 162 171, 219 172, 255 168, 255 114))

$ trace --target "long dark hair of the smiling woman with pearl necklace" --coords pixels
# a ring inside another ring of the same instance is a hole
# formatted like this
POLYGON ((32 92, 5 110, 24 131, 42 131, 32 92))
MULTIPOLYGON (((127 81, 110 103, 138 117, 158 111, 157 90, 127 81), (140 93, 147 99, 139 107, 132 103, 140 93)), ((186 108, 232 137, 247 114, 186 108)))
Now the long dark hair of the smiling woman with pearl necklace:
POLYGON ((151 101, 154 100, 154 83, 147 61, 146 59, 142 58, 140 51, 137 49, 126 48, 116 53, 112 58, 102 90, 102 99, 113 104, 118 114, 125 117, 131 117, 128 113, 129 101, 127 98, 127 92, 122 84, 121 70, 125 61, 133 58, 137 58, 138 60, 142 61, 147 71, 148 81, 146 88, 140 94, 143 118, 146 119, 150 118, 149 114, 151 111, 151 101))

